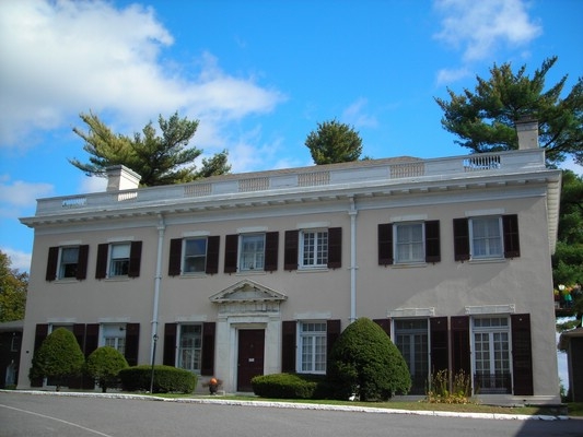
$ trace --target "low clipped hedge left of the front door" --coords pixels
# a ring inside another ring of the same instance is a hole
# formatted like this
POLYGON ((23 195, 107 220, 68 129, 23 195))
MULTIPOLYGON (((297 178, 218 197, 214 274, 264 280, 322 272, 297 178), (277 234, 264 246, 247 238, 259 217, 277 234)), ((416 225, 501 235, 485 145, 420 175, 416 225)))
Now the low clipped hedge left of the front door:
MULTIPOLYGON (((149 391, 152 366, 128 367, 119 371, 124 391, 149 391)), ((197 387, 197 376, 191 371, 172 366, 154 366, 154 393, 191 393, 197 387)))

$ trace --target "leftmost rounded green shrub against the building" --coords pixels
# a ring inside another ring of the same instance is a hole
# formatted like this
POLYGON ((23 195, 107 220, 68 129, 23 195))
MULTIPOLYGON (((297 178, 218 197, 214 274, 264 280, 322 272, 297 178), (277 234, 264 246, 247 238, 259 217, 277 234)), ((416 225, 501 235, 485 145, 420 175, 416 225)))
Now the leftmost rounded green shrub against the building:
POLYGON ((73 333, 57 328, 35 352, 28 376, 55 379, 58 391, 66 378, 81 374, 84 364, 85 357, 73 333))

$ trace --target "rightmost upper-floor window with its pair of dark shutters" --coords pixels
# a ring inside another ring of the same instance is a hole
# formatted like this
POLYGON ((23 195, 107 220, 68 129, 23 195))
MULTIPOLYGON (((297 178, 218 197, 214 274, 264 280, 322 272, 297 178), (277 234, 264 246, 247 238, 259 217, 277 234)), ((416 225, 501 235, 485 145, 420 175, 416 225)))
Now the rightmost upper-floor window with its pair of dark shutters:
POLYGON ((455 218, 454 250, 456 261, 520 257, 518 216, 455 218))

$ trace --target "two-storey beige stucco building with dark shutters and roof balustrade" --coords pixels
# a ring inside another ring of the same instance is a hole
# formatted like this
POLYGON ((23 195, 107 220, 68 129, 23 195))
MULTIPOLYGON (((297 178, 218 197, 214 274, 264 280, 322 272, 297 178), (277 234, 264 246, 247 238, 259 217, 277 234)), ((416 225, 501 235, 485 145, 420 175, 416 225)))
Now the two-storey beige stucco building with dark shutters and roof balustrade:
POLYGON ((406 358, 411 394, 450 369, 486 399, 559 402, 560 172, 522 143, 140 189, 117 167, 107 192, 42 199, 21 220, 35 238, 19 388, 56 327, 85 354, 108 344, 150 364, 155 350, 245 392, 254 375, 325 373, 334 340, 368 317, 406 358))

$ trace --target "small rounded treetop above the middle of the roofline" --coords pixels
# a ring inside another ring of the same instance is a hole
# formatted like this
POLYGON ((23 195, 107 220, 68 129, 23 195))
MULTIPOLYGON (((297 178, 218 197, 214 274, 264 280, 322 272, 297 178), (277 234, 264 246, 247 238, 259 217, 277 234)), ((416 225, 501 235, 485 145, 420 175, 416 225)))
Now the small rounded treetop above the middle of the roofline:
POLYGON ((307 135, 305 145, 318 165, 358 161, 362 153, 359 132, 336 120, 318 123, 318 129, 307 135))

